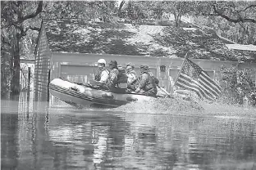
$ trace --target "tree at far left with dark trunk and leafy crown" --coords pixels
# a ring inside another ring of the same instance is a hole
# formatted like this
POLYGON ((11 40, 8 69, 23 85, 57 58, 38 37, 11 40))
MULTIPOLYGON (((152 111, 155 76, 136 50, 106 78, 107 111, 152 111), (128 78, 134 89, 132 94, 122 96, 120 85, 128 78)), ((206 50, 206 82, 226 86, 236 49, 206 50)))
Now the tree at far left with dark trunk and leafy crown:
POLYGON ((11 46, 11 93, 16 95, 20 92, 20 43, 21 38, 25 37, 29 29, 34 29, 28 25, 28 21, 38 16, 43 10, 43 1, 22 2, 22 1, 3 1, 1 2, 1 26, 2 30, 8 30, 6 36, 11 36, 7 42, 7 37, 2 36, 2 42, 9 43, 11 46), (35 11, 34 11, 35 7, 35 11))

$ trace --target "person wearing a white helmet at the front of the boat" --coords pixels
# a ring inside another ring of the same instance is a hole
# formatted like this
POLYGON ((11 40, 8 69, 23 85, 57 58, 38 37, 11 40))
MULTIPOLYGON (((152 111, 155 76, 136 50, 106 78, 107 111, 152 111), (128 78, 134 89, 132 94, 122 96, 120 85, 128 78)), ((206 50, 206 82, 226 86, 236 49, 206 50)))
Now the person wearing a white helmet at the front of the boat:
POLYGON ((98 70, 94 75, 94 80, 99 83, 106 83, 107 78, 109 76, 109 71, 106 68, 107 62, 104 59, 99 59, 97 61, 97 64, 98 64, 98 70))

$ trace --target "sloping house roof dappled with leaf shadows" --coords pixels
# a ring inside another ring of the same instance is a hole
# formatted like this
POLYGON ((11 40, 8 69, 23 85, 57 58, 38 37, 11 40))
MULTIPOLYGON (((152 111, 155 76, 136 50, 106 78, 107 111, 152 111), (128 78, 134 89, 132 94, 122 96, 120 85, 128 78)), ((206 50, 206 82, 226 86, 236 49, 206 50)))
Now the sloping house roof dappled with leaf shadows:
POLYGON ((170 58, 184 57, 188 51, 190 58, 239 60, 216 33, 207 29, 76 20, 47 20, 45 25, 51 51, 170 58))

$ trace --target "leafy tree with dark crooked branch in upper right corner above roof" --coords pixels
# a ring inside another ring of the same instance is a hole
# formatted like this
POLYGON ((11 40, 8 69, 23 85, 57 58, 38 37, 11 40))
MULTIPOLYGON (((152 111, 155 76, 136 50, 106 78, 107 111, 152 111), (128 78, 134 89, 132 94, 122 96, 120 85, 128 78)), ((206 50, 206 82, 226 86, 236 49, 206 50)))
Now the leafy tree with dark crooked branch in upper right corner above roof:
POLYGON ((196 24, 216 29, 225 38, 256 45, 255 2, 199 2, 194 16, 199 17, 196 24))

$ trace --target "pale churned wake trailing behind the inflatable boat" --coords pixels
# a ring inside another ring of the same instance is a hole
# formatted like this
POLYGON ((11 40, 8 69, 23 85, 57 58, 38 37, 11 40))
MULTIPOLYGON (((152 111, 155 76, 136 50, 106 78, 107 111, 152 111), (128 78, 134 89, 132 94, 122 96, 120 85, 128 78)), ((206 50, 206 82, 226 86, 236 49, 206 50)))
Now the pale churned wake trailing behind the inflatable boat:
POLYGON ((203 101, 184 101, 182 99, 152 99, 151 101, 132 102, 111 111, 146 114, 173 114, 185 116, 210 116, 220 118, 256 118, 256 108, 203 101))

